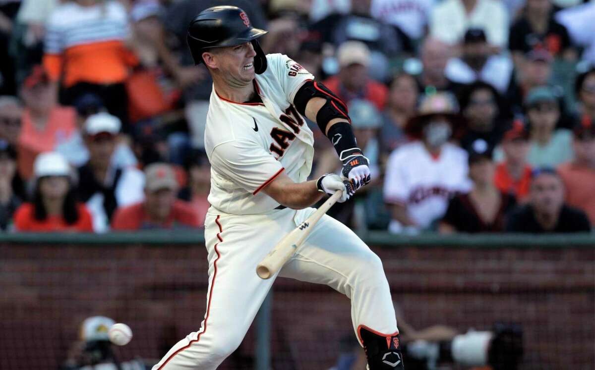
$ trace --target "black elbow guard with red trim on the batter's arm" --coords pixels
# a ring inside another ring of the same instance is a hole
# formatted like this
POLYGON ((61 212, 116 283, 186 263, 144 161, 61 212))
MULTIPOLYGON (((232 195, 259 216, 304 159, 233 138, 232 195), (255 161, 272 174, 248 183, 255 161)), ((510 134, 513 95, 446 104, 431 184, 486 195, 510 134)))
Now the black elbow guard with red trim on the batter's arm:
POLYGON ((297 90, 295 98, 293 98, 293 105, 296 106, 297 111, 301 115, 305 115, 306 105, 310 99, 315 97, 326 99, 326 102, 316 114, 316 123, 322 133, 326 132, 328 122, 334 118, 343 118, 351 123, 349 115, 347 115, 347 105, 345 102, 339 99, 337 95, 334 95, 324 84, 317 81, 306 81, 297 90))

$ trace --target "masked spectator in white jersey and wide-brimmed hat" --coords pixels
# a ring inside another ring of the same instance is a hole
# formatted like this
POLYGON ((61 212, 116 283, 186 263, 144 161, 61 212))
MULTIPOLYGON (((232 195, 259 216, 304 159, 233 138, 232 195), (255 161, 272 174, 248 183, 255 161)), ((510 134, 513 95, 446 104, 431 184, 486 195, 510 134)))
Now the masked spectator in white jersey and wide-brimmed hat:
POLYGON ((419 115, 405 131, 414 141, 390 155, 384 177, 384 201, 391 207, 392 233, 417 233, 444 215, 450 197, 466 192, 467 153, 449 142, 464 126, 452 95, 425 96, 419 115))

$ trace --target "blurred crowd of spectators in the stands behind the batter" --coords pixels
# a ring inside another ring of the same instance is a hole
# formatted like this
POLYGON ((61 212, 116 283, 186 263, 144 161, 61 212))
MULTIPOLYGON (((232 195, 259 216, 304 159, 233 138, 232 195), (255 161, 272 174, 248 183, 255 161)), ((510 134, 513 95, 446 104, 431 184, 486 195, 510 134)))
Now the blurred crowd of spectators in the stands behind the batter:
MULTIPOLYGON (((0 0, 0 229, 199 228, 212 81, 192 18, 236 5, 347 102, 356 230, 590 231, 595 2, 0 0)), ((312 178, 340 162, 315 123, 312 178)), ((222 132, 221 135, 226 133, 222 132)))

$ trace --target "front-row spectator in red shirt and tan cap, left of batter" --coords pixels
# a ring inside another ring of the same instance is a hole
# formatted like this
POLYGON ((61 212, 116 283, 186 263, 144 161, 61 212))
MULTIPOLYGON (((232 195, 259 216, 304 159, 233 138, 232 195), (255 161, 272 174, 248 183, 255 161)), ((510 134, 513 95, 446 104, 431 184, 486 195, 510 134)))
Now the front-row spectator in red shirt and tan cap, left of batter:
POLYGON ((173 168, 154 163, 145 169, 145 200, 118 208, 112 230, 148 230, 199 227, 199 218, 189 203, 176 199, 179 188, 173 168))

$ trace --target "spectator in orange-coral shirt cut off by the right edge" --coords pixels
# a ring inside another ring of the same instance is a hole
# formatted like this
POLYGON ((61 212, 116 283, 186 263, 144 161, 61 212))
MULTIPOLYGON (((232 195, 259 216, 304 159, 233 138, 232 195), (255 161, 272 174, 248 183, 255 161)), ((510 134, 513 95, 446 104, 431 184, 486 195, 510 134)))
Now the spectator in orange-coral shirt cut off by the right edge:
POLYGON ((583 117, 574 128, 574 161, 560 165, 558 173, 566 189, 566 203, 581 208, 595 225, 595 120, 583 117))

